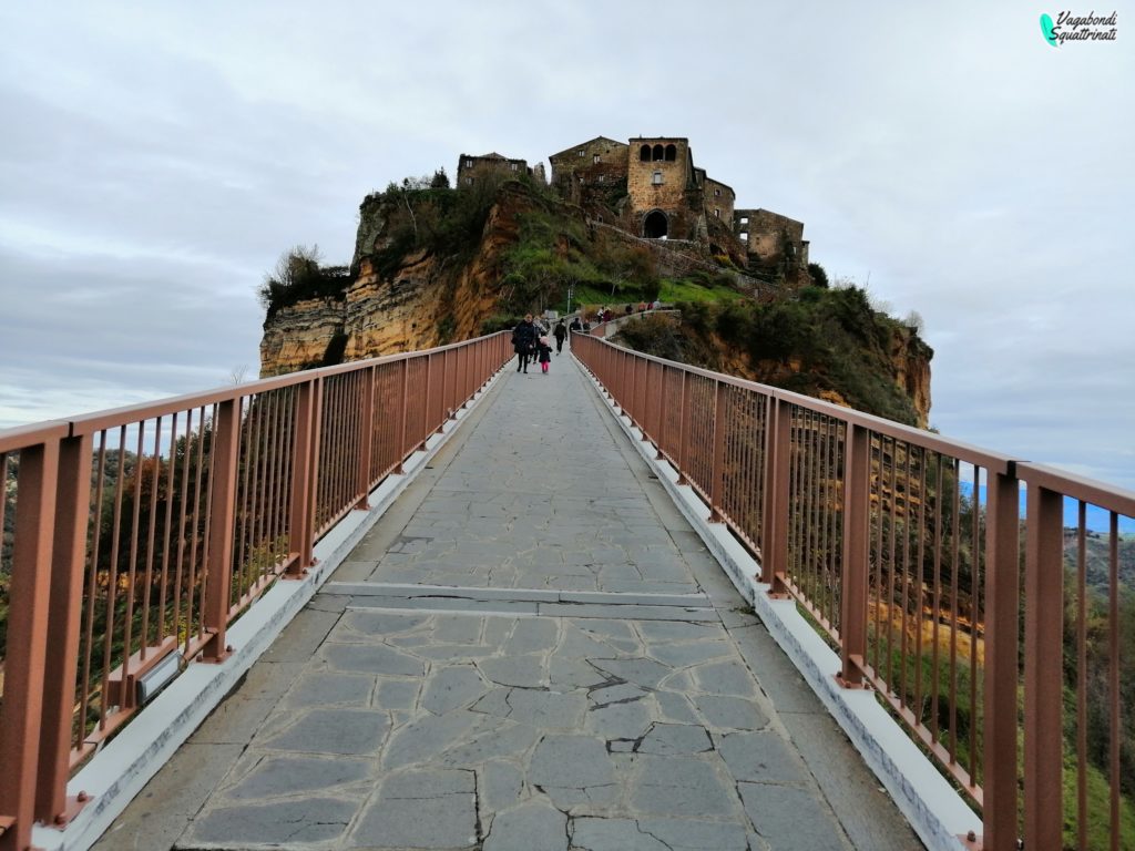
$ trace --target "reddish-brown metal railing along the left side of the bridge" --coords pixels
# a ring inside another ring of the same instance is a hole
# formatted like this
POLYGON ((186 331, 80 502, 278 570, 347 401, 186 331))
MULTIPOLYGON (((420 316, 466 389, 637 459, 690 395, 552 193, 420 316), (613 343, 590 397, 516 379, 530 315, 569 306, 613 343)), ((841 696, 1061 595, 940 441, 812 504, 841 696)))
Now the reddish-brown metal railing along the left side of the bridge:
POLYGON ((506 334, 0 431, 0 849, 512 356, 506 334))

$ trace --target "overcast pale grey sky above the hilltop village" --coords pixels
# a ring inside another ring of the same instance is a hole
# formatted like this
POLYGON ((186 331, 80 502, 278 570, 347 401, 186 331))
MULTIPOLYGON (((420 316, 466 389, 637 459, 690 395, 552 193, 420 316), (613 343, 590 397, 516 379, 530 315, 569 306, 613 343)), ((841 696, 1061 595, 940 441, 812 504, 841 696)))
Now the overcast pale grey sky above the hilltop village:
POLYGON ((264 270, 392 179, 674 135, 923 315, 943 433, 1135 489, 1135 15, 871 6, 6 2, 0 427, 254 377, 264 270))

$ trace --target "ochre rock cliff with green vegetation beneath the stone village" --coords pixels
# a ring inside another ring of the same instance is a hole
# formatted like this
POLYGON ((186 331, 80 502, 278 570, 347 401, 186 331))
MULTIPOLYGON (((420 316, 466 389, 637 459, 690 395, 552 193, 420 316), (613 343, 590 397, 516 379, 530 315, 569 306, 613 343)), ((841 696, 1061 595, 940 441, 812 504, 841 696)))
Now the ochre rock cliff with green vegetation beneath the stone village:
POLYGON ((687 305, 679 326, 645 322, 624 342, 927 424, 933 352, 914 329, 873 311, 863 290, 777 289, 732 264, 714 267, 692 244, 657 242, 602 225, 580 207, 516 182, 476 193, 392 186, 363 201, 350 273, 297 286, 292 297, 268 304, 261 376, 506 328, 518 314, 558 301, 565 281, 598 289, 620 276, 630 286, 645 276, 657 287, 658 276, 689 280, 716 270, 716 279, 731 280, 747 298, 687 305), (295 297, 311 292, 318 297, 295 297))

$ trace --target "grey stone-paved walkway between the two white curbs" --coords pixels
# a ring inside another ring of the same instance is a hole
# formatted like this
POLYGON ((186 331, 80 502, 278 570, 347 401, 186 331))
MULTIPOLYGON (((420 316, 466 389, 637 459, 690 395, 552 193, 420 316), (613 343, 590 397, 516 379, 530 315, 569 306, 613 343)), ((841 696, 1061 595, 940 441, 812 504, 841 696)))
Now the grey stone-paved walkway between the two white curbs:
POLYGON ((920 848, 573 359, 490 393, 96 848, 920 848))

